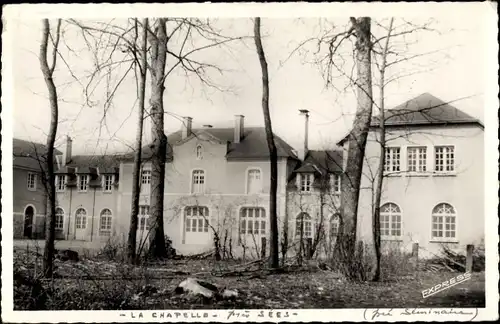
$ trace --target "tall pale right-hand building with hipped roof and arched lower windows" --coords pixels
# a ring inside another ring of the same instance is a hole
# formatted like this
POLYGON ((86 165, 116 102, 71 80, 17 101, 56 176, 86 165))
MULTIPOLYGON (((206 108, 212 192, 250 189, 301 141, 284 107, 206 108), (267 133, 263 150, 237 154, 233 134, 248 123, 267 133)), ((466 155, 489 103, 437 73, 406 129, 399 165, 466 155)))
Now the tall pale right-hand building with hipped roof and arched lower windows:
MULTIPOLYGON (((484 126, 430 94, 388 111, 381 197, 386 248, 433 256, 443 245, 465 251, 484 239, 484 126)), ((379 121, 369 133, 361 183, 359 236, 370 242, 379 121)))

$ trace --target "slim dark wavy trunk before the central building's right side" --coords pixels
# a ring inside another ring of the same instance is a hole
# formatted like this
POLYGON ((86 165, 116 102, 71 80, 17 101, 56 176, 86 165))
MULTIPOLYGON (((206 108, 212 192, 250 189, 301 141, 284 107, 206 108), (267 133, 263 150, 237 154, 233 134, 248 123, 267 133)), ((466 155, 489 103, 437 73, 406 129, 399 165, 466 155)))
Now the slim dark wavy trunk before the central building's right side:
POLYGON ((254 20, 254 40, 262 69, 262 111, 264 113, 264 124, 266 127, 267 146, 271 157, 271 189, 269 193, 269 221, 271 225, 271 242, 269 244, 269 266, 271 268, 279 267, 278 251, 278 217, 276 215, 276 198, 278 191, 278 153, 274 143, 274 134, 269 114, 269 77, 267 70, 267 61, 262 47, 260 36, 260 18, 254 20))

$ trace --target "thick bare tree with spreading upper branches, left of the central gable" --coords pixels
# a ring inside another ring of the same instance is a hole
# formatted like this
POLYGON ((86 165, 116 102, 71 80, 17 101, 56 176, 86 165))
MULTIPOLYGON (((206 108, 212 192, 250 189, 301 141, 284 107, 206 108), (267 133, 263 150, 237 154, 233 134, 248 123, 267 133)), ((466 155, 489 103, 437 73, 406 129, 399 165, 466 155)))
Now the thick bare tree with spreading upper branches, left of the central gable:
MULTIPOLYGON (((87 44, 94 39, 93 46, 101 46, 102 39, 111 39, 102 51, 114 52, 120 49, 123 53, 137 53, 136 43, 130 40, 130 34, 135 27, 128 23, 115 22, 82 23, 76 20, 70 22, 82 31, 87 44)), ((135 25, 135 24, 134 24, 135 25)), ((151 76, 151 95, 149 111, 145 118, 151 118, 151 231, 149 236, 149 254, 154 257, 165 257, 166 247, 163 228, 165 163, 167 154, 167 136, 164 130, 165 110, 163 96, 165 82, 169 76, 180 68, 186 77, 194 76, 202 85, 221 89, 210 77, 210 71, 222 73, 223 70, 197 56, 201 51, 214 47, 222 47, 231 41, 244 37, 228 37, 212 26, 209 19, 199 18, 158 18, 151 19, 147 27, 147 51, 149 53, 146 66, 151 76)), ((102 46, 101 46, 102 47, 102 46)), ((95 50, 93 50, 95 52, 95 50)), ((96 58, 103 55, 94 55, 96 58)), ((104 55, 111 57, 110 55, 104 55)), ((109 61, 109 59, 107 59, 109 61)), ((132 60, 135 60, 132 58, 132 60)), ((123 62, 123 61, 122 61, 123 62)), ((105 62, 105 66, 111 63, 105 62)), ((120 62, 114 62, 120 65, 120 62)), ((102 65, 98 65, 102 68, 102 65)), ((132 68, 132 66, 130 67, 132 68)), ((124 75, 125 77, 125 75, 124 75)), ((109 100, 109 99, 108 99, 109 100)))

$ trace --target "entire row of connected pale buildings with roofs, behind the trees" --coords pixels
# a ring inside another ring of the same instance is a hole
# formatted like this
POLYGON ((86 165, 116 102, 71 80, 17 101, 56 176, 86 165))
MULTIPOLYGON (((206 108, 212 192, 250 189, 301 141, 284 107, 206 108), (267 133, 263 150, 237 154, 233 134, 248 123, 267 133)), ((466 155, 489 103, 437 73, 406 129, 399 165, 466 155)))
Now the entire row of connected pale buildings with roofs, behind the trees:
MULTIPOLYGON (((275 135, 280 243, 290 253, 329 255, 341 217, 347 141, 331 150, 309 150, 308 112, 301 114, 305 136, 298 152, 275 135)), ((437 253, 441 244, 452 248, 477 244, 484 235, 482 124, 429 94, 386 115, 383 246, 411 249, 418 242, 429 253, 437 253)), ((358 209, 358 237, 368 244, 380 155, 377 118, 372 126, 358 209)), ((178 253, 202 253, 215 246, 233 256, 266 253, 270 164, 265 129, 246 128, 239 115, 233 128, 193 129, 192 119, 186 117, 182 129, 168 135, 168 143, 163 222, 178 253)), ((97 245, 112 238, 125 240, 133 155, 73 156, 71 145, 68 139, 58 159, 57 237, 97 245)), ((140 181, 140 242, 147 242, 152 222, 150 158, 151 149, 146 146, 140 181)), ((18 213, 25 215, 21 205, 27 205, 26 199, 19 195, 14 199, 18 213)), ((34 208, 37 213, 43 210, 43 215, 44 209, 34 208)))

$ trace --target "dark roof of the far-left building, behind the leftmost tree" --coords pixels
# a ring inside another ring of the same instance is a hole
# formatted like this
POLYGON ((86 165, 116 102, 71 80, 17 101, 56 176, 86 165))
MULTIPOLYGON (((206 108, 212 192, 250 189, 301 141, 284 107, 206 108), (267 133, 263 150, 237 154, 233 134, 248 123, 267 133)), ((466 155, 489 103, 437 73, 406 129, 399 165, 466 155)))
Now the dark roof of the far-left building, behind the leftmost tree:
MULTIPOLYGON (((45 162, 47 146, 18 138, 12 139, 13 167, 40 170, 40 163, 45 162)), ((54 149, 54 154, 62 154, 54 149)))

